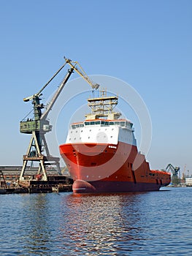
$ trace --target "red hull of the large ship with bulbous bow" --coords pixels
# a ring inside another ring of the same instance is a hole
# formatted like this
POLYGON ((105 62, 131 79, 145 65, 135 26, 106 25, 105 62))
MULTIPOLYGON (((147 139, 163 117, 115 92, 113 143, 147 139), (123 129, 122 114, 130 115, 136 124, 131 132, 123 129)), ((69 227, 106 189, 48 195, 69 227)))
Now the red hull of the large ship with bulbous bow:
POLYGON ((150 170, 137 146, 127 143, 67 143, 59 148, 74 179, 74 193, 156 191, 171 181, 169 173, 150 170))

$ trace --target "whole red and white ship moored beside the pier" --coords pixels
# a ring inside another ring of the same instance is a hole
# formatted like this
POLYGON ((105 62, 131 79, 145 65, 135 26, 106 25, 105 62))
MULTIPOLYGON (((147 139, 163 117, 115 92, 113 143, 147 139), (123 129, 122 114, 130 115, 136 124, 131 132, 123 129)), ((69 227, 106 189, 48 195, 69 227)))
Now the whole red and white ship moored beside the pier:
POLYGON ((74 183, 74 193, 158 191, 171 182, 163 170, 150 170, 137 149, 133 123, 115 111, 118 96, 89 97, 91 113, 72 123, 59 146, 74 183))

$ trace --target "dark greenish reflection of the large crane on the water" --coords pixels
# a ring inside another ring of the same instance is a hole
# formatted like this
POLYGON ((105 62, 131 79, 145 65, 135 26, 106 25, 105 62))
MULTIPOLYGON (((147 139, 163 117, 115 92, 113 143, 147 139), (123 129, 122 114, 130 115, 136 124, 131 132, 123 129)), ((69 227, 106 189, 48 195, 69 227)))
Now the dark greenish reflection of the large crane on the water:
POLYGON ((50 246, 47 244, 51 241, 50 207, 46 194, 31 195, 23 208, 23 252, 34 255, 44 252, 44 255, 49 255, 50 246))

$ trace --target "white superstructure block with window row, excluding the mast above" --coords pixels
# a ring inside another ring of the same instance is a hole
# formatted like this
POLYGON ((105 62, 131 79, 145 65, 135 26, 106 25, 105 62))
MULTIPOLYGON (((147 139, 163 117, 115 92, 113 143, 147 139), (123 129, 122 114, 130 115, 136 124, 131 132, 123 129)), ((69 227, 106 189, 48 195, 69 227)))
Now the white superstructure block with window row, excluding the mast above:
POLYGON ((72 124, 66 143, 106 143, 118 142, 137 146, 133 124, 128 120, 90 120, 72 124))

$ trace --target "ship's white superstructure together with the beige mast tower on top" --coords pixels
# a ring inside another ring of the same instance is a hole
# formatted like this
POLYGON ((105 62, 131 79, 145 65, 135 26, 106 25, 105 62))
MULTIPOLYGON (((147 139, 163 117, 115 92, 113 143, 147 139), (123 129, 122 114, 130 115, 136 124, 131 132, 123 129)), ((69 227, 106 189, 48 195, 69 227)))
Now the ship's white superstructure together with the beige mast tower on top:
POLYGON ((107 97, 106 91, 101 91, 101 97, 88 99, 91 113, 85 121, 71 125, 66 143, 106 143, 117 145, 118 142, 136 146, 134 129, 131 121, 119 119, 120 113, 114 108, 118 97, 107 97))

